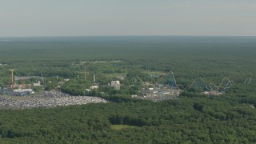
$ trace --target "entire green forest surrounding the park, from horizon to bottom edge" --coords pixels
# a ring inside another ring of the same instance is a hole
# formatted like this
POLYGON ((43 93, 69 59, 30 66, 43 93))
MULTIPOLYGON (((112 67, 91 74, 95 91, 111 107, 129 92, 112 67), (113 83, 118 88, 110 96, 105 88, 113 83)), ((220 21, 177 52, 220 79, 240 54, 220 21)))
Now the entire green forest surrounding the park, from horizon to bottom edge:
POLYGON ((82 106, 0 110, 1 142, 256 142, 255 40, 254 37, 74 37, 13 38, 0 42, 0 87, 10 85, 9 70, 15 69, 17 76, 46 77, 45 90, 111 100, 82 106), (161 82, 169 71, 174 72, 182 90, 178 98, 162 102, 130 98, 140 88, 136 87, 134 77, 161 82), (93 74, 97 75, 100 88, 85 94, 84 89, 93 82, 93 74), (159 77, 152 78, 152 74, 159 77), (121 90, 107 87, 119 77, 124 78, 121 90), (70 81, 58 87, 64 78, 70 81), (202 78, 207 86, 218 85, 223 78, 235 84, 224 94, 206 96, 201 94, 204 87, 200 84, 191 87, 196 78, 202 78), (246 81, 248 78, 250 81, 246 81))

